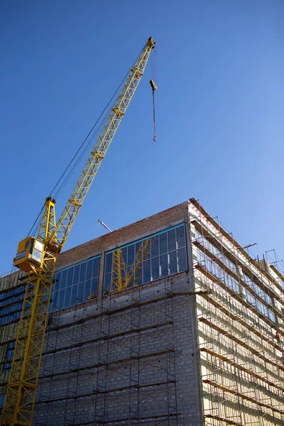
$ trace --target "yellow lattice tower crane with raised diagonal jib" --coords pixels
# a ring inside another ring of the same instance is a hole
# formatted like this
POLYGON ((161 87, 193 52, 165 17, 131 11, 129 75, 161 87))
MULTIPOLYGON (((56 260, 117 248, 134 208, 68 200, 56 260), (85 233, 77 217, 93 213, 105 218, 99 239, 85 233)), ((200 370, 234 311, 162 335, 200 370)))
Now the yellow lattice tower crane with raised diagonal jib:
POLYGON ((14 265, 28 273, 28 280, 1 415, 1 426, 32 424, 55 262, 129 107, 154 45, 155 41, 151 37, 148 38, 141 54, 131 67, 58 221, 55 220, 55 200, 48 197, 45 200, 38 235, 36 238, 28 237, 18 244, 14 265))

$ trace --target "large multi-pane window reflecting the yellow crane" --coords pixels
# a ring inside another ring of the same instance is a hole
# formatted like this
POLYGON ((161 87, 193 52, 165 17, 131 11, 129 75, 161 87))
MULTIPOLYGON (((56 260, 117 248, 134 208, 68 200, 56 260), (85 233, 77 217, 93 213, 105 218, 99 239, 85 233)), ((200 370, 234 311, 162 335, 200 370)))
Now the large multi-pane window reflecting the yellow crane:
POLYGON ((182 224, 106 253, 104 290, 124 290, 186 270, 182 224))

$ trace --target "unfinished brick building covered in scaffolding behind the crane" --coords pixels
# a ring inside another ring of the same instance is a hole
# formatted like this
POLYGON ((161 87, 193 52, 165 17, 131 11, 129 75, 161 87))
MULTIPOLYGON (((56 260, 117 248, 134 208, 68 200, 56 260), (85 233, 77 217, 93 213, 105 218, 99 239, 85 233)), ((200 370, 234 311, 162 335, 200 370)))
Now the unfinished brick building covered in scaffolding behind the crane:
MULTIPOLYGON (((1 407, 26 280, 0 280, 1 407)), ((33 425, 283 426, 283 282, 195 199, 60 253, 33 425)))

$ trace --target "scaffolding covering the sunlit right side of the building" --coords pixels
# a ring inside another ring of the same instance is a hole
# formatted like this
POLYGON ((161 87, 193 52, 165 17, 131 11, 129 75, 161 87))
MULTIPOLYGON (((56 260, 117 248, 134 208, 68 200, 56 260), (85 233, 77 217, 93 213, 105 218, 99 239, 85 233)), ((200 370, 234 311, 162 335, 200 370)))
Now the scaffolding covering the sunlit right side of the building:
POLYGON ((283 425, 282 285, 191 201, 204 424, 283 425))

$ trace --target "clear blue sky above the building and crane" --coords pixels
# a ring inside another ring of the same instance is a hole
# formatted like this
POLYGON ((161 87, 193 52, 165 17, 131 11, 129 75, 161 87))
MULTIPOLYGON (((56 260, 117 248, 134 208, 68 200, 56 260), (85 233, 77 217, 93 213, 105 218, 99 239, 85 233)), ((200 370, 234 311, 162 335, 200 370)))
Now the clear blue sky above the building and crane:
POLYGON ((283 0, 2 0, 0 271, 150 35, 157 141, 148 64, 65 249, 196 197, 283 258, 283 21, 283 0))

